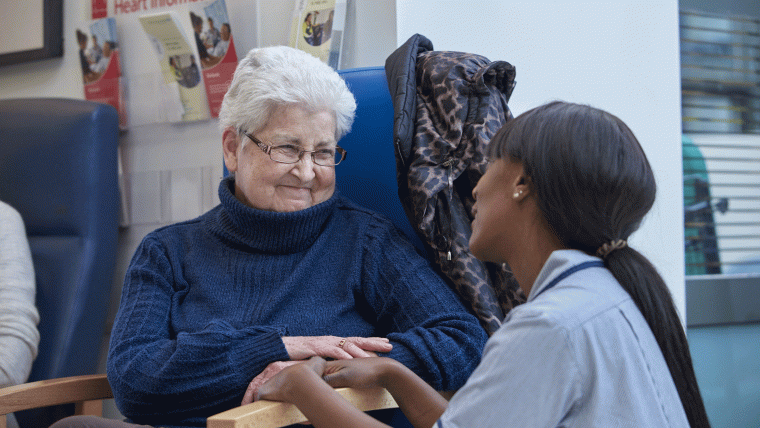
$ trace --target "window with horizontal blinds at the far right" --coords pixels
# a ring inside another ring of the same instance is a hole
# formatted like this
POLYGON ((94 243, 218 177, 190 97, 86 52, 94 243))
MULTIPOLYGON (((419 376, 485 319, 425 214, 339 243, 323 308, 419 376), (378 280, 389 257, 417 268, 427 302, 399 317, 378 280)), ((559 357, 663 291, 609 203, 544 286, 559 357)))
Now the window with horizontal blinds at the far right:
POLYGON ((760 274, 760 20, 681 12, 686 274, 760 274))

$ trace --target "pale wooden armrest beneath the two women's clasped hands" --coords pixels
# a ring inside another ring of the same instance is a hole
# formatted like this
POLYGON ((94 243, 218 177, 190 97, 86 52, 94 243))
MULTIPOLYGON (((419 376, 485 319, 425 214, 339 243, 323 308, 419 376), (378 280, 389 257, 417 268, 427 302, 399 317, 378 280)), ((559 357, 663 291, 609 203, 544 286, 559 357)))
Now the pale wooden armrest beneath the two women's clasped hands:
MULTIPOLYGON (((398 407, 391 394, 383 388, 338 388, 336 391, 363 412, 398 407)), ((306 421, 303 413, 293 404, 261 400, 211 416, 206 420, 206 427, 277 428, 306 421)))

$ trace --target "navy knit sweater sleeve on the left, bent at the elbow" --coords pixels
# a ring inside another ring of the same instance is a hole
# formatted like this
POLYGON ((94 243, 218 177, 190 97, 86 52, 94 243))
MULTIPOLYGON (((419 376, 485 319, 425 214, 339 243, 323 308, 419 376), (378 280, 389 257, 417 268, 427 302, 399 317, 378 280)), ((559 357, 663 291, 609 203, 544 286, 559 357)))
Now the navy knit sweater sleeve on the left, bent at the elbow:
POLYGON ((287 359, 277 327, 212 320, 173 333, 172 263, 159 239, 146 237, 127 270, 108 354, 108 380, 119 410, 160 425, 205 417, 239 405, 248 383, 270 361, 287 359))

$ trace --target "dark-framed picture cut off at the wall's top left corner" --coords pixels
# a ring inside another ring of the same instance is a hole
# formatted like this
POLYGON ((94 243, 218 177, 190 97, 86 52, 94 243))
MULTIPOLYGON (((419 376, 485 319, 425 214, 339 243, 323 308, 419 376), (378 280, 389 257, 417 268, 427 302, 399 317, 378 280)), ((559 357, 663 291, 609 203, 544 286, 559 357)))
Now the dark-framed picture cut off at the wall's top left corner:
POLYGON ((0 66, 63 55, 63 0, 0 2, 0 66))

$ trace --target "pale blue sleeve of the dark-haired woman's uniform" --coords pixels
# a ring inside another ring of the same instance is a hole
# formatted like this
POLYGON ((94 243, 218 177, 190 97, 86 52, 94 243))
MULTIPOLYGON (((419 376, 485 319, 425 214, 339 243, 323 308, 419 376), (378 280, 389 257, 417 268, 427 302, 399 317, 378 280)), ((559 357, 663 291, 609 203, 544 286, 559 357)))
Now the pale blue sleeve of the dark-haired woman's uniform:
POLYGON ((559 426, 582 396, 571 349, 566 330, 540 314, 510 317, 436 427, 559 426))

